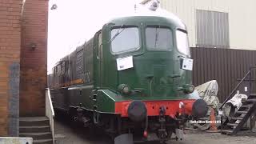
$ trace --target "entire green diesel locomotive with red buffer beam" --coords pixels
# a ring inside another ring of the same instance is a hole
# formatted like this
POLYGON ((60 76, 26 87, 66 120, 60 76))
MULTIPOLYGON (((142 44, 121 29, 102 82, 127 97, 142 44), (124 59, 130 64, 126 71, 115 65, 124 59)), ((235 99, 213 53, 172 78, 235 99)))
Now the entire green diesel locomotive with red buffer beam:
POLYGON ((54 109, 114 136, 182 138, 184 123, 207 111, 190 99, 191 67, 186 26, 174 15, 114 18, 54 66, 54 109))

